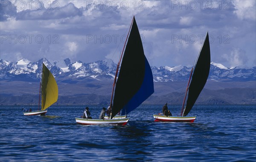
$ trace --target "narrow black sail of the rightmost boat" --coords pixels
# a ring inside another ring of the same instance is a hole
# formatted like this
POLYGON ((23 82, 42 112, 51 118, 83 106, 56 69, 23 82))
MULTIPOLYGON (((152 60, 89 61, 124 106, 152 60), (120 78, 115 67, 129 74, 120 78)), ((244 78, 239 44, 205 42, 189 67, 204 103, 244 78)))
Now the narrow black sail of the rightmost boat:
POLYGON ((202 46, 201 52, 198 56, 198 61, 195 65, 195 69, 192 75, 192 81, 189 85, 189 95, 186 102, 186 108, 184 110, 183 116, 188 115, 190 110, 195 104, 198 96, 200 95, 204 85, 206 84, 209 70, 210 70, 210 44, 209 44, 209 35, 207 32, 204 44, 202 46))

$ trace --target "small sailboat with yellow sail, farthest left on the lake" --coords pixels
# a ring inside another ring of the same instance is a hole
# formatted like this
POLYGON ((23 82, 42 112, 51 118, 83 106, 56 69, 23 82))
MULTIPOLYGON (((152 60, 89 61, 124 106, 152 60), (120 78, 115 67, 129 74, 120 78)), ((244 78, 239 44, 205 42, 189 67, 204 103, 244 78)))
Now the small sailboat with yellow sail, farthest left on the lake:
POLYGON ((58 100, 58 85, 50 70, 43 63, 42 78, 39 89, 38 111, 23 112, 24 115, 45 115, 47 108, 58 100), (40 110, 40 93, 41 93, 41 110, 40 110))

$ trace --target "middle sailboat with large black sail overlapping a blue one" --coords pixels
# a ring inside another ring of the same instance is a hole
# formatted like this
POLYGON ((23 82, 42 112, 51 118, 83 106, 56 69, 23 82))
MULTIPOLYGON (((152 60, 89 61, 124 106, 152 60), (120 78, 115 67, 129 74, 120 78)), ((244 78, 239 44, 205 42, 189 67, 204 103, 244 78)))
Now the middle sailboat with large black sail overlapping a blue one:
POLYGON ((154 92, 152 71, 148 64, 148 60, 144 55, 143 45, 135 17, 133 17, 131 22, 129 32, 125 40, 125 45, 117 64, 116 75, 113 83, 110 102, 110 109, 112 110, 111 117, 105 120, 76 118, 77 123, 83 125, 125 125, 129 118, 115 118, 117 113, 122 109, 121 116, 127 115, 129 112, 140 106, 140 104, 154 92), (121 66, 119 70, 120 64, 121 66), (118 71, 119 75, 117 79, 118 71))

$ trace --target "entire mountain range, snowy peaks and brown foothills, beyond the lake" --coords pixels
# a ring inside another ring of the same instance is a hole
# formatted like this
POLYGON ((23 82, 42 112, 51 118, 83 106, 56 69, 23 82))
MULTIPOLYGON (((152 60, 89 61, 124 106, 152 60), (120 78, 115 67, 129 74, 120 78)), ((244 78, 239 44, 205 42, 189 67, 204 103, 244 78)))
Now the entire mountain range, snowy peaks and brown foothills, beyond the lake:
MULTIPOLYGON (((0 59, 0 104, 38 104, 42 63, 55 76, 59 104, 108 104, 116 64, 111 59, 84 63, 70 59, 15 63, 0 59)), ((207 84, 196 104, 256 104, 256 67, 227 68, 212 62, 207 84)), ((151 67, 154 93, 144 104, 180 104, 190 66, 151 67)))

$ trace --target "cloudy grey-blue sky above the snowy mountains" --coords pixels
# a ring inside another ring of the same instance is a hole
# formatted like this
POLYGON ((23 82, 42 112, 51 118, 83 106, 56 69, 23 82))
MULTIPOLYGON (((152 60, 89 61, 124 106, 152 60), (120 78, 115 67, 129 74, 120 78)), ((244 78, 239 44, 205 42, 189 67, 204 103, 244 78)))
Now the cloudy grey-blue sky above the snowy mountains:
POLYGON ((211 61, 256 66, 255 0, 1 0, 0 59, 119 59, 135 15, 151 66, 192 65, 209 31, 211 61))

